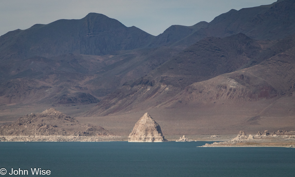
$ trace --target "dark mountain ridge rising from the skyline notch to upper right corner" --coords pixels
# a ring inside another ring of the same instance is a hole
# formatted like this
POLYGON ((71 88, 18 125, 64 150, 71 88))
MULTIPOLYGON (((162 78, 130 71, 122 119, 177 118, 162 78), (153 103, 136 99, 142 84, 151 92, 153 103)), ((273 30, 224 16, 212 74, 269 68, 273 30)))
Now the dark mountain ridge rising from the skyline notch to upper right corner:
POLYGON ((275 40, 295 34, 295 2, 277 1, 270 5, 230 10, 210 23, 193 26, 173 25, 158 35, 150 46, 192 45, 206 37, 226 37, 243 33, 252 39, 275 40), (164 44, 165 43, 165 44, 164 44))

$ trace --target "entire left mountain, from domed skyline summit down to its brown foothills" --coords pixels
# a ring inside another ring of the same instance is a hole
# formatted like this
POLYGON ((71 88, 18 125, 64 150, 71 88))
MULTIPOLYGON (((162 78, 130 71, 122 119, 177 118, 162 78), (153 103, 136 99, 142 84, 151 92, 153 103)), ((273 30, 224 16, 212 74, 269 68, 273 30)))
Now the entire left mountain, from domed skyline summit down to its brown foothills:
POLYGON ((180 51, 143 48, 152 39, 96 13, 8 32, 0 37, 0 104, 96 103, 180 51))

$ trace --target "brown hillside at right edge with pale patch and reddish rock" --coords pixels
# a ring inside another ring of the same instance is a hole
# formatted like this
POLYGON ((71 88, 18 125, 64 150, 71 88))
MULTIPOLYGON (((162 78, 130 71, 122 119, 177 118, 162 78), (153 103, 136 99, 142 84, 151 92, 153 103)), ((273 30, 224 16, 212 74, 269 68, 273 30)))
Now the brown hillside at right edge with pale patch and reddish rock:
MULTIPOLYGON (((178 100, 243 100, 292 97, 295 91, 295 47, 250 68, 219 75, 186 87, 175 98, 178 100)), ((171 103, 169 103, 171 104, 171 103)))

